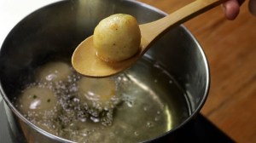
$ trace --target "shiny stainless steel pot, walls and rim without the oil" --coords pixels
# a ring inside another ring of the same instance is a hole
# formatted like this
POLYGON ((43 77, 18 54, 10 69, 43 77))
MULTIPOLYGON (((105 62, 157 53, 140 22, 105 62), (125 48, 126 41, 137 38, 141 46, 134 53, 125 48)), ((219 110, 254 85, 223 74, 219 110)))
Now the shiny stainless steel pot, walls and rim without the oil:
MULTIPOLYGON (((0 51, 0 91, 10 128, 19 142, 72 142, 39 129, 23 117, 12 103, 15 89, 23 83, 20 77, 44 63, 49 54, 71 57, 76 46, 92 34, 98 21, 115 13, 132 14, 140 24, 166 15, 159 9, 130 0, 62 1, 26 16, 9 32, 0 51)), ((207 100, 210 77, 200 44, 184 26, 167 32, 147 56, 172 73, 187 94, 190 108, 189 117, 176 128, 148 140, 157 141, 172 137, 200 112, 207 100)))

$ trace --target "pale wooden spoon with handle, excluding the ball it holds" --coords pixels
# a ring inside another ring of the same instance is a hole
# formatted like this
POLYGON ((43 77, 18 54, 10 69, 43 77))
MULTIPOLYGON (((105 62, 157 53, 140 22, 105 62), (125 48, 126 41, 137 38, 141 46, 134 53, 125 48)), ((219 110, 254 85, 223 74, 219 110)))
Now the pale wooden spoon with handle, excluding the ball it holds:
MULTIPOLYGON (((109 77, 122 72, 134 64, 159 37, 174 26, 192 19, 222 3, 220 0, 196 0, 166 17, 140 25, 142 34, 141 50, 131 58, 119 62, 107 62, 96 55, 93 36, 86 38, 75 49, 72 57, 73 68, 86 77, 109 77)), ((210 19, 209 19, 210 20, 210 19)))

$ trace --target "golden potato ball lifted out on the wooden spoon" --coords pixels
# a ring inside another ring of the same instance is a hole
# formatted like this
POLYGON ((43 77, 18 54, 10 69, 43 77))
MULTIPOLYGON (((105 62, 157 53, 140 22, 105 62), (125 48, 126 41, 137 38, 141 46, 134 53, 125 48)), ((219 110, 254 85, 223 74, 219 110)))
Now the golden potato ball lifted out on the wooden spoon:
POLYGON ((120 61, 137 54, 141 32, 137 20, 129 14, 113 14, 101 20, 93 35, 96 54, 106 61, 120 61))

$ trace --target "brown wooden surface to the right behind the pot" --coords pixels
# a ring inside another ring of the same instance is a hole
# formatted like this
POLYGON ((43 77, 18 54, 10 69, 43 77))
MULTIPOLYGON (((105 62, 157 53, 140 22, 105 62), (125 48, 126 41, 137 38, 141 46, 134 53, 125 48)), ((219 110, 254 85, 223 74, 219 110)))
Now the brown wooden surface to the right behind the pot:
MULTIPOLYGON (((167 14, 191 0, 140 0, 167 14)), ((184 23, 201 43, 211 89, 201 113, 237 142, 256 142, 256 17, 247 2, 236 20, 221 6, 184 23)))

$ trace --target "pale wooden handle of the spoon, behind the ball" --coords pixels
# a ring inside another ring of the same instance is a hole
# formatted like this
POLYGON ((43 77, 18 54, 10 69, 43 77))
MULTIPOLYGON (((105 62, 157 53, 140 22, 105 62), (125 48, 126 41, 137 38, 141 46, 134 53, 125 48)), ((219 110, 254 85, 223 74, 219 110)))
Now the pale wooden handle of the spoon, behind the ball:
POLYGON ((196 15, 218 6, 222 2, 222 0, 195 0, 195 2, 185 5, 160 20, 140 25, 143 48, 150 47, 150 43, 153 43, 161 34, 164 34, 173 26, 178 26, 196 15))

